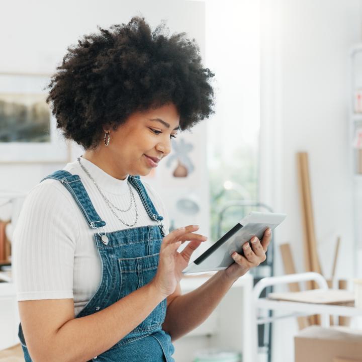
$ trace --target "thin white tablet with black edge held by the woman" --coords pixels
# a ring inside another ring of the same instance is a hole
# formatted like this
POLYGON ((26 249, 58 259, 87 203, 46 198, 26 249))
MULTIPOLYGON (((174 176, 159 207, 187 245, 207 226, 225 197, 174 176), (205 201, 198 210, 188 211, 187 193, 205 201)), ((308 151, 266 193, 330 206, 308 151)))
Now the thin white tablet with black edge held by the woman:
POLYGON ((242 245, 246 241, 251 245, 250 239, 254 236, 261 240, 267 228, 275 229, 286 216, 286 214, 270 212, 251 212, 189 264, 183 273, 214 272, 226 269, 234 262, 231 257, 233 252, 244 255, 242 245))

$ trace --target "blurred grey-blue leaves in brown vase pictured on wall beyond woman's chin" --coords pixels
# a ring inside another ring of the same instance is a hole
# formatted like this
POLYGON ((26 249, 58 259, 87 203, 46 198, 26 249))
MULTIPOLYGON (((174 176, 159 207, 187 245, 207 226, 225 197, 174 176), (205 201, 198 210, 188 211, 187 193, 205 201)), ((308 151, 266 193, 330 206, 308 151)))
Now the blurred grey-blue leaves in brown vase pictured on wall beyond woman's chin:
POLYGON ((183 138, 172 142, 173 152, 169 156, 166 166, 170 167, 174 160, 177 160, 177 165, 172 174, 174 177, 187 177, 194 171, 194 164, 191 161, 188 153, 194 149, 191 143, 187 143, 183 138))

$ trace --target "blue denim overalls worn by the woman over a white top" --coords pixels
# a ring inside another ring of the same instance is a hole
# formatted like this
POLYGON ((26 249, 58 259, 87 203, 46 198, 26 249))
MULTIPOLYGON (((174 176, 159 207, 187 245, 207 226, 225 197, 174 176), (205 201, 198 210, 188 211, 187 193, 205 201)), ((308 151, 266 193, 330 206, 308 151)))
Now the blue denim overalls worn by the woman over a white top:
MULTIPOLYGON (((129 182, 139 193, 148 216, 158 225, 134 227, 105 233, 103 221, 97 214, 78 175, 58 170, 45 177, 59 180, 71 193, 82 211, 89 227, 95 229, 95 243, 102 260, 102 280, 96 294, 75 318, 109 307, 129 293, 149 283, 156 274, 162 237, 161 220, 139 176, 129 175, 129 182)), ((44 180, 43 179, 43 180, 44 180)), ((171 338, 162 330, 166 315, 166 299, 135 329, 113 347, 91 361, 96 362, 173 362, 171 338)), ((26 362, 32 362, 26 346, 23 330, 19 324, 19 339, 26 362)), ((88 361, 89 362, 89 361, 88 361)))

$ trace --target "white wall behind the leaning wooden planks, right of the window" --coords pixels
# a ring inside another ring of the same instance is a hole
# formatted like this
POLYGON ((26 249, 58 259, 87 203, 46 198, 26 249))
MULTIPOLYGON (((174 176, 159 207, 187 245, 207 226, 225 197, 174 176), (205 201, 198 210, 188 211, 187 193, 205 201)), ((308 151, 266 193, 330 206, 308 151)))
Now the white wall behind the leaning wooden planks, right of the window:
MULTIPOLYGON (((330 276, 340 235, 336 274, 353 275, 348 51, 361 41, 360 9, 359 0, 262 0, 260 199, 288 214, 276 241, 291 244, 297 272, 305 269, 295 153, 306 151, 322 270, 330 276)), ((274 328, 273 360, 293 360, 295 321, 274 328)))

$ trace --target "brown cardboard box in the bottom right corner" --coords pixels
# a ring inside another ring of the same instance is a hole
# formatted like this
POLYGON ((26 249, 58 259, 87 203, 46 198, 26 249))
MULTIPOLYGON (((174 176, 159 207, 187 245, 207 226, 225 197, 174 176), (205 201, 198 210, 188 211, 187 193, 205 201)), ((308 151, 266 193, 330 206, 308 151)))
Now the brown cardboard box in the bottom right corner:
POLYGON ((362 330, 313 325, 294 337, 294 351, 295 362, 362 362, 362 330))

